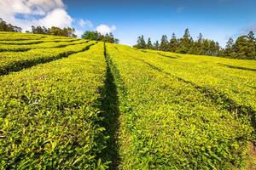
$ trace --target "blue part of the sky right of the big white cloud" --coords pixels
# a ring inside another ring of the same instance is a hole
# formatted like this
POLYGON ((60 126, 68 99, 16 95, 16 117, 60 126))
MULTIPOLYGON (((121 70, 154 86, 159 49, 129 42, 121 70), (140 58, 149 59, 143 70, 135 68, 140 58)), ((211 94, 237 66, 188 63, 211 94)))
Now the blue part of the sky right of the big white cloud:
POLYGON ((255 0, 64 0, 68 14, 90 20, 95 26, 114 25, 121 43, 134 44, 139 35, 154 41, 162 34, 204 37, 224 45, 228 37, 256 31, 255 0))

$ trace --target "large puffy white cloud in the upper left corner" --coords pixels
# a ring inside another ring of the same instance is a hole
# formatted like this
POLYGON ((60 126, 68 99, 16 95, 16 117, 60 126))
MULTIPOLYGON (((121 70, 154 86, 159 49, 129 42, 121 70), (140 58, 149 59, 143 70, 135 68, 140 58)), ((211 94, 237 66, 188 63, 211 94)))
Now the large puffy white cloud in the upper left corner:
POLYGON ((31 26, 72 27, 73 22, 62 0, 1 0, 0 11, 0 18, 24 31, 31 26))

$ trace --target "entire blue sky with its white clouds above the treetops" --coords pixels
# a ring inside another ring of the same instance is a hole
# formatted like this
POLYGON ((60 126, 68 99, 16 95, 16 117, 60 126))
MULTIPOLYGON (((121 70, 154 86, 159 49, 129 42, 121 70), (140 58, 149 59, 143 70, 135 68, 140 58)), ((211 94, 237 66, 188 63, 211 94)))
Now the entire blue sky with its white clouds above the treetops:
POLYGON ((154 42, 172 32, 182 37, 186 28, 196 39, 218 41, 256 31, 255 0, 0 0, 0 18, 20 26, 74 27, 113 32, 120 43, 133 45, 144 35, 154 42))

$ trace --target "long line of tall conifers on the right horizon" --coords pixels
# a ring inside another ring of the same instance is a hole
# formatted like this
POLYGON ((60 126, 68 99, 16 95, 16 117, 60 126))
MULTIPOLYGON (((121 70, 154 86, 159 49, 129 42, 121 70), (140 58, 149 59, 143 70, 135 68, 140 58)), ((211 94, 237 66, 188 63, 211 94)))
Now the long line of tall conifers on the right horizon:
POLYGON ((137 38, 137 44, 134 48, 154 49, 161 51, 169 51, 179 54, 197 54, 197 55, 212 55, 224 56, 234 59, 256 59, 256 38, 253 31, 250 31, 246 36, 241 36, 236 39, 230 38, 225 48, 221 48, 218 42, 204 38, 199 34, 197 40, 189 34, 189 29, 184 31, 183 37, 177 38, 175 33, 168 40, 166 35, 163 35, 159 41, 152 43, 150 37, 148 42, 145 42, 144 37, 137 38))

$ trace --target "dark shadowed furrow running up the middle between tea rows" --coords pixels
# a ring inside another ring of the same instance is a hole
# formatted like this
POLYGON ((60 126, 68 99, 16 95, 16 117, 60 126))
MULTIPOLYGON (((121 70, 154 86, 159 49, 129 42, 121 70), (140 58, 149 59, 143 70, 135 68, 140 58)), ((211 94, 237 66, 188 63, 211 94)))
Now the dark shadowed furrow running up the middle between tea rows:
POLYGON ((119 99, 117 87, 114 82, 113 73, 107 59, 106 48, 104 48, 104 55, 107 62, 107 72, 105 86, 102 90, 102 111, 104 112, 103 127, 106 128, 106 133, 109 136, 107 148, 102 152, 102 160, 111 161, 109 169, 118 169, 119 166, 119 144, 118 144, 118 130, 119 130, 119 99))

